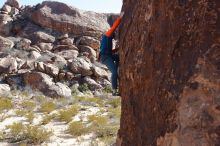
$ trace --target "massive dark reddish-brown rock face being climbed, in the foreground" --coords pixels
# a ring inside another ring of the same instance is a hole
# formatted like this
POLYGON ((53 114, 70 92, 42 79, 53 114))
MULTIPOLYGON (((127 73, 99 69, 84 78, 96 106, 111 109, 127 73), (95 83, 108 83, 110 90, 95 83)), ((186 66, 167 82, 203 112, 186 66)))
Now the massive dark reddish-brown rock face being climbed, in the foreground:
POLYGON ((118 145, 220 145, 219 7, 123 1, 118 145))

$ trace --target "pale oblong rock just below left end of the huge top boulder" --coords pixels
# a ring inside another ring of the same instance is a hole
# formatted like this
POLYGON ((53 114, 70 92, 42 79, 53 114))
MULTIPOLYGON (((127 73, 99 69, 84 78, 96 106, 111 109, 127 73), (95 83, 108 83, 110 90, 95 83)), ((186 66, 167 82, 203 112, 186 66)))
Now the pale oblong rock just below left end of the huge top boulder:
POLYGON ((52 35, 49 35, 45 32, 42 32, 42 31, 38 31, 38 32, 35 32, 33 35, 32 35, 33 39, 34 40, 37 40, 38 42, 44 42, 44 43, 53 43, 55 42, 55 37, 52 36, 52 35))

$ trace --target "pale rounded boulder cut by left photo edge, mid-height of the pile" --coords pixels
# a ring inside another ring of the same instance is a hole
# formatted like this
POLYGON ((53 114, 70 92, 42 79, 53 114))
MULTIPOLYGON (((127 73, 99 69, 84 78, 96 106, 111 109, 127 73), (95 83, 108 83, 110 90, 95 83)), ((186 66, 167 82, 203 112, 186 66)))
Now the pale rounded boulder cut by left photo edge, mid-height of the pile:
POLYGON ((0 74, 17 72, 18 64, 14 57, 8 55, 0 58, 0 74))

